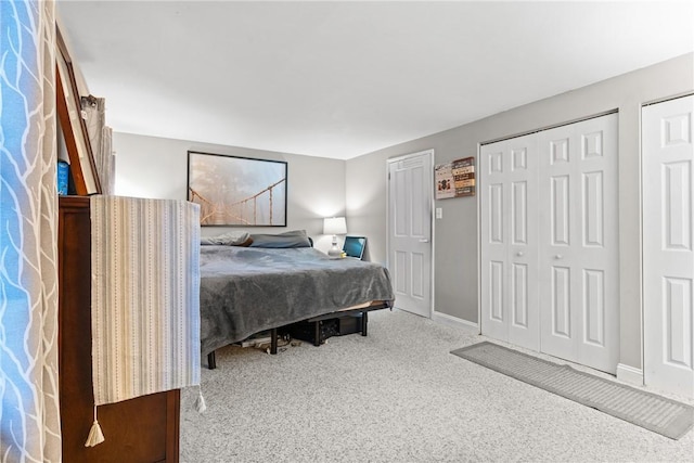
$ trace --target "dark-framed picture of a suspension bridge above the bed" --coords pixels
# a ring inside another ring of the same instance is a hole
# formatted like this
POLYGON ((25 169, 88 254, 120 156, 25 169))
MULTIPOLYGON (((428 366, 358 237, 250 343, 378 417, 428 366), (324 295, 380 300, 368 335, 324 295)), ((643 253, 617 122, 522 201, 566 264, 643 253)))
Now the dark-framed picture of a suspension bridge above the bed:
POLYGON ((188 201, 203 227, 286 227, 287 163, 189 151, 188 201))

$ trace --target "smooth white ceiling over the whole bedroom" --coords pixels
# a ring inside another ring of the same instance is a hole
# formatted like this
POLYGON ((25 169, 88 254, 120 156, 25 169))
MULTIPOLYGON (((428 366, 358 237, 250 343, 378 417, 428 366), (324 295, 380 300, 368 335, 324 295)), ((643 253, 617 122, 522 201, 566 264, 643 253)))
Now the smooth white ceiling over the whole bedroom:
POLYGON ((694 2, 59 0, 114 130, 350 158, 694 51, 694 2))

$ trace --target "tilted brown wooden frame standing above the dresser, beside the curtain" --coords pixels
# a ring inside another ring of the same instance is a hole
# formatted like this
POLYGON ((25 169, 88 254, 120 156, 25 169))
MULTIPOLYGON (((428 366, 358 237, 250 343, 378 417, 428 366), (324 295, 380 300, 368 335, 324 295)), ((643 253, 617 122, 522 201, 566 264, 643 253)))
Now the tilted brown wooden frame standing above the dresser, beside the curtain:
POLYGON ((55 36, 56 110, 69 157, 69 170, 75 193, 80 196, 100 194, 101 183, 87 133, 87 125, 81 116, 81 103, 73 62, 60 29, 56 29, 55 36))

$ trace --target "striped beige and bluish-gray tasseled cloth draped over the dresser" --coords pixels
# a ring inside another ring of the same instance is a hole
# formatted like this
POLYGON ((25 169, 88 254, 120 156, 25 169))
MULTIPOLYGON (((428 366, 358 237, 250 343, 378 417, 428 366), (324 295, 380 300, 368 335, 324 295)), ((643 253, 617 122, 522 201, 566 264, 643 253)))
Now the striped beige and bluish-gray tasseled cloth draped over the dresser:
POLYGON ((94 404, 200 384, 200 206, 90 202, 94 404))

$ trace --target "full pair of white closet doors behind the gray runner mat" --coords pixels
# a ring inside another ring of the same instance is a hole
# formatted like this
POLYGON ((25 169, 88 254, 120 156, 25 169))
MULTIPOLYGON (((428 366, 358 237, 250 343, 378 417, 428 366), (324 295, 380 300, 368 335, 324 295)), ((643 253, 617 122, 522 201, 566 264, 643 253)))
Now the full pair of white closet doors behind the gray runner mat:
POLYGON ((617 115, 483 145, 481 332, 614 373, 617 115))

